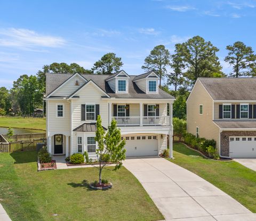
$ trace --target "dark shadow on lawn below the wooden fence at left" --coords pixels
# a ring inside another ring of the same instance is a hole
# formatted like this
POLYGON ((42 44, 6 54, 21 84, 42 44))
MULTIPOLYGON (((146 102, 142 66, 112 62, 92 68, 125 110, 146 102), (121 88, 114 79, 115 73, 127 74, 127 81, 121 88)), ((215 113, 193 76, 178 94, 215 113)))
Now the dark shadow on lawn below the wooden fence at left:
POLYGON ((36 151, 20 151, 10 153, 11 157, 15 160, 14 163, 28 163, 37 162, 36 151))

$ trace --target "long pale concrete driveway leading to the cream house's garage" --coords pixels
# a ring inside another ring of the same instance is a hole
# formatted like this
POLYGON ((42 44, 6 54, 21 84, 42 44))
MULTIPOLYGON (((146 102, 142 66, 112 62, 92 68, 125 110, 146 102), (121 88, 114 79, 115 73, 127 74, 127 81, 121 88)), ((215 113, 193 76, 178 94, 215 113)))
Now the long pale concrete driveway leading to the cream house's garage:
POLYGON ((137 177, 166 220, 256 220, 256 215, 203 178, 159 157, 128 158, 137 177))

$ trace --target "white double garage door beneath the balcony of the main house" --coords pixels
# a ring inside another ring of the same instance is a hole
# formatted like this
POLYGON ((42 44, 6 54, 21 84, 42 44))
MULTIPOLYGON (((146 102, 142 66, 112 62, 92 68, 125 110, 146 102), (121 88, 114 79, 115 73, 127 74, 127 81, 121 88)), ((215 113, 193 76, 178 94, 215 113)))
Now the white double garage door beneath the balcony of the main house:
POLYGON ((158 155, 158 136, 124 136, 126 140, 125 149, 127 157, 158 155))

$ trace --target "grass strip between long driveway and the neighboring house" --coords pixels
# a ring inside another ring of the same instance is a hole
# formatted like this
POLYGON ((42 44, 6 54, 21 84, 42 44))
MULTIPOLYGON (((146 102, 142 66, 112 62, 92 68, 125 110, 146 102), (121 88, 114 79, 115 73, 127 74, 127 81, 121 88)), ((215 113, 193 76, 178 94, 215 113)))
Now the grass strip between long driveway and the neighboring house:
POLYGON ((206 181, 229 194, 247 209, 256 212, 256 171, 235 161, 214 161, 174 143, 171 162, 201 176, 206 181))

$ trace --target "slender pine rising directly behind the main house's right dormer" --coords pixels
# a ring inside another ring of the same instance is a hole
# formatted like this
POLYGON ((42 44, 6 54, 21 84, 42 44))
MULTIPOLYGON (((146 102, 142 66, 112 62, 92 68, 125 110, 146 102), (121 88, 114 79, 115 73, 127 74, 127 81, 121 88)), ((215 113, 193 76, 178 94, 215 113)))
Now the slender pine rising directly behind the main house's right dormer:
POLYGON ((141 67, 147 71, 154 71, 160 77, 161 87, 162 78, 166 75, 166 67, 170 64, 170 52, 164 45, 157 45, 146 57, 144 65, 141 67))

